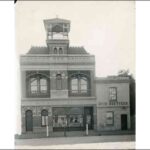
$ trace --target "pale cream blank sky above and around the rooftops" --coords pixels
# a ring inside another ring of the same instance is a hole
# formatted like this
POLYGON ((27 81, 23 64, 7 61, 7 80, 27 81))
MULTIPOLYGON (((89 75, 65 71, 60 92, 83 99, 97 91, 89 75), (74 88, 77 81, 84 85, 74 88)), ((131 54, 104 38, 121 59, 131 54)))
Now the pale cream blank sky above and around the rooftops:
POLYGON ((44 19, 71 21, 70 46, 95 55, 96 76, 129 69, 135 76, 134 1, 18 1, 15 6, 16 52, 46 46, 44 19))

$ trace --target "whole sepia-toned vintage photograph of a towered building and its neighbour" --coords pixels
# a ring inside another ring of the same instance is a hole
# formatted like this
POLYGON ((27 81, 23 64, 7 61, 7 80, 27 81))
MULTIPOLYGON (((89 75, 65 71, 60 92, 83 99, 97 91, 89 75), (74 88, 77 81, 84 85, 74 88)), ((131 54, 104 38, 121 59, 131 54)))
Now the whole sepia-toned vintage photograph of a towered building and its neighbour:
POLYGON ((135 148, 134 1, 18 1, 15 34, 16 148, 135 148))

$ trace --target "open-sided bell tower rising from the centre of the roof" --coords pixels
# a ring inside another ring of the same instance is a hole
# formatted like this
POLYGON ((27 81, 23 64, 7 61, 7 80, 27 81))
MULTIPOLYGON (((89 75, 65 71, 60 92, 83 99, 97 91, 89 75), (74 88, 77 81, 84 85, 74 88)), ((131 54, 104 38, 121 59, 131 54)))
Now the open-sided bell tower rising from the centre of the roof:
POLYGON ((70 21, 54 18, 44 20, 46 44, 50 54, 67 54, 69 47, 68 34, 70 21))

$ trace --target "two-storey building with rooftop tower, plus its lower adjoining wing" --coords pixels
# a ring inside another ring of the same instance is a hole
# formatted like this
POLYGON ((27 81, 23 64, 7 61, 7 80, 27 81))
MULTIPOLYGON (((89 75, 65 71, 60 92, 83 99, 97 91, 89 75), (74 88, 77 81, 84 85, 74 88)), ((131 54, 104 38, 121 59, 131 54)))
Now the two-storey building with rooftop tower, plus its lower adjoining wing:
POLYGON ((20 57, 22 134, 130 129, 129 79, 95 77, 94 55, 69 45, 69 20, 44 26, 47 46, 20 57))

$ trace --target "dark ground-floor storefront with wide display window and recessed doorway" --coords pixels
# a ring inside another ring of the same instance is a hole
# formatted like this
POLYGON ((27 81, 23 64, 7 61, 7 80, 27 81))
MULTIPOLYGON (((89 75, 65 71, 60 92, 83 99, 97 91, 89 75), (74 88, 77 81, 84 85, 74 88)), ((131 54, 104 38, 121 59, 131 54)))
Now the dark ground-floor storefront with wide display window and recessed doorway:
POLYGON ((93 129, 93 107, 54 107, 53 131, 93 129))

